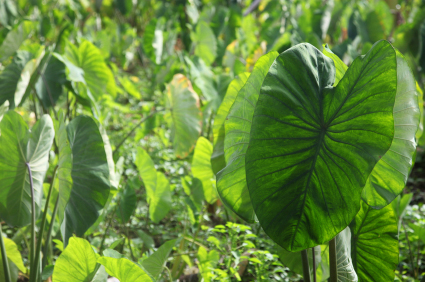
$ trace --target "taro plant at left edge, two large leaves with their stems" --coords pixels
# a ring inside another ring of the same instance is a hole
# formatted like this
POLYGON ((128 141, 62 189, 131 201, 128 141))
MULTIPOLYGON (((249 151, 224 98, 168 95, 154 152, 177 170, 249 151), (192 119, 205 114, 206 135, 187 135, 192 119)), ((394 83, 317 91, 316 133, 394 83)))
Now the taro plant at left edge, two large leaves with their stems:
MULTIPOLYGON (((108 199, 109 168, 103 138, 90 117, 78 116, 66 124, 63 112, 55 121, 43 115, 29 130, 13 110, 4 114, 0 134, 0 217, 10 226, 31 226, 29 281, 38 282, 42 273, 51 270, 48 250, 55 220, 61 223, 66 246, 73 234, 83 236, 95 223, 108 199), (58 157, 49 162, 53 143, 58 157), (50 165, 53 177, 43 207, 43 181, 50 165)), ((2 234, 0 244, 5 281, 16 277, 16 267, 28 272, 2 234)))

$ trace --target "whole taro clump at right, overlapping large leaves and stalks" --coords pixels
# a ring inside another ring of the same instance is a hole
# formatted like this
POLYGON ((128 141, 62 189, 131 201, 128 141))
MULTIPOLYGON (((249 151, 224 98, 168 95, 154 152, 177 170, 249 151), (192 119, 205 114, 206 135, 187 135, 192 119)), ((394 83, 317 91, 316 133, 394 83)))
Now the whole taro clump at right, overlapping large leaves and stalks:
POLYGON ((378 41, 348 68, 327 47, 298 44, 236 81, 215 131, 222 201, 300 252, 305 281, 316 281, 319 262, 313 255, 310 271, 307 250, 319 245, 330 281, 392 281, 398 240, 388 204, 414 161, 422 99, 403 55, 378 41))

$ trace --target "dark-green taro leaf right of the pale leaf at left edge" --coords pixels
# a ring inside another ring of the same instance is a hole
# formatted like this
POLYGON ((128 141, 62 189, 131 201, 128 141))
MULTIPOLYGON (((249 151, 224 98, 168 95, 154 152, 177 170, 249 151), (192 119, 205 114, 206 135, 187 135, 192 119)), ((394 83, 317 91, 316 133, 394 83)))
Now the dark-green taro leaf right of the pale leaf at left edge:
POLYGON ((83 236, 99 217, 109 191, 109 168, 105 147, 96 122, 78 116, 66 128, 72 150, 72 190, 65 208, 65 245, 75 233, 83 236))

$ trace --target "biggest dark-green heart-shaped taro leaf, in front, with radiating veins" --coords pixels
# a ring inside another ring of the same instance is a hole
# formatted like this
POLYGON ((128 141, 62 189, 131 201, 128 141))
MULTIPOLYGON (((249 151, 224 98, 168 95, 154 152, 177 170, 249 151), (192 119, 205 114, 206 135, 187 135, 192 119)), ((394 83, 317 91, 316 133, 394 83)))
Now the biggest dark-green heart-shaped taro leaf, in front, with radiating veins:
POLYGON ((246 177, 260 224, 285 249, 330 241, 357 214, 367 177, 394 136, 396 64, 393 47, 380 41, 336 87, 331 59, 310 44, 270 67, 246 177))

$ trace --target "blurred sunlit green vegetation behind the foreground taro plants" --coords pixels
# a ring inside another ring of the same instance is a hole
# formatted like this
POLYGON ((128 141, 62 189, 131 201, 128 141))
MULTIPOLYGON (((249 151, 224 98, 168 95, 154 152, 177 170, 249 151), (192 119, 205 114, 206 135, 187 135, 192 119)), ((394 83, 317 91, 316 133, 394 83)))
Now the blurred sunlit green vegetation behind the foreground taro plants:
MULTIPOLYGON (((84 244, 72 238, 76 234, 98 253, 116 250, 144 267, 160 249, 159 281, 300 281, 300 258, 218 198, 219 108, 237 87, 232 80, 252 72, 264 54, 302 42, 319 50, 328 44, 350 65, 380 39, 403 53, 423 90, 423 0, 0 1, 0 118, 14 110, 31 128, 50 114, 69 121, 67 130, 75 128, 80 140, 97 142, 87 149, 93 156, 99 144, 106 151, 101 160, 86 157, 79 169, 97 167, 108 179, 79 183, 73 174, 71 185, 83 187, 69 196, 73 209, 65 203, 61 210, 55 188, 46 226, 37 217, 36 231, 46 230, 37 238, 45 250, 42 279, 53 272, 46 266, 60 265, 64 238, 71 237, 69 247, 84 244), (101 138, 78 130, 89 125, 101 138)), ((66 123, 54 124, 56 138, 65 132, 61 126, 65 130, 66 123)), ((48 155, 44 199, 61 162, 58 144, 48 155)), ((396 281, 425 281, 424 146, 425 138, 406 188, 391 205, 399 221, 396 281)), ((9 258, 11 272, 27 281, 31 226, 6 224, 3 214, 2 220, 5 242, 17 257, 9 258)), ((329 277, 326 267, 322 259, 320 281, 329 277)), ((53 274, 53 281, 83 280, 55 280, 53 274)))

